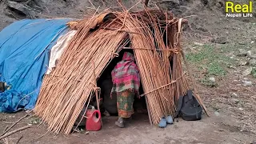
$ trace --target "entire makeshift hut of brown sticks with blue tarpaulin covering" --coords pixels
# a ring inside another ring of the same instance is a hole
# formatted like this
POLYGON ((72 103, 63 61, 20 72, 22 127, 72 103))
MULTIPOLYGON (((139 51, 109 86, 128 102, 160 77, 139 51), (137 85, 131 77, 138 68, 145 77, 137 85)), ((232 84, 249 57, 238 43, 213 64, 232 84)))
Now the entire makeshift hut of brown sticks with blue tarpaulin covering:
POLYGON ((193 78, 187 81, 191 73, 180 44, 186 20, 162 10, 122 9, 96 11, 78 21, 26 19, 2 30, 0 112, 34 110, 50 131, 70 134, 91 99, 99 103, 97 82, 104 72, 110 73, 110 63, 123 50, 132 50, 142 81, 139 96, 146 99, 150 123, 174 114, 178 98, 194 88, 189 86, 193 78))

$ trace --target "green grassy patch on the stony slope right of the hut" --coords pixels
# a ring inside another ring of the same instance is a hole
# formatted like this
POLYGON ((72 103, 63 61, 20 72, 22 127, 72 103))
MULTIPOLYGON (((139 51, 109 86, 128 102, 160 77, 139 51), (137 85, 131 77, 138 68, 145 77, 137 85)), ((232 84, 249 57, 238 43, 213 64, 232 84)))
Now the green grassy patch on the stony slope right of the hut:
POLYGON ((230 66, 234 66, 236 63, 234 59, 224 53, 222 48, 218 49, 214 44, 202 44, 202 46, 192 44, 191 47, 186 58, 191 65, 195 66, 194 69, 201 72, 201 75, 195 74, 195 76, 204 86, 218 86, 209 78, 224 78, 229 72, 230 66))

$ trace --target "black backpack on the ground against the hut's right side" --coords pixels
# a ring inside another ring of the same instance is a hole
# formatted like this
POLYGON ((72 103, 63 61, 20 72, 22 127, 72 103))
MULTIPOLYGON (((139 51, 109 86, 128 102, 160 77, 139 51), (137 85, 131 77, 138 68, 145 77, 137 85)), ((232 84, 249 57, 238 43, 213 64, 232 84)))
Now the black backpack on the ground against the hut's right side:
POLYGON ((196 121, 202 118, 202 107, 192 95, 192 90, 188 90, 187 95, 178 98, 178 108, 174 118, 178 115, 186 121, 196 121))

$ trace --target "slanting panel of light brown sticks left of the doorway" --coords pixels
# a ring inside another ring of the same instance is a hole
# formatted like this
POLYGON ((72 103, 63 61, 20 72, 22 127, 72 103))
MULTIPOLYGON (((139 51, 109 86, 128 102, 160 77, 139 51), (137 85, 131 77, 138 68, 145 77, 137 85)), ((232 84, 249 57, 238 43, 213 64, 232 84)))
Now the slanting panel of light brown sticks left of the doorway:
POLYGON ((88 34, 86 28, 90 24, 82 23, 84 26, 66 48, 56 70, 45 78, 38 98, 36 114, 49 124, 49 130, 56 133, 70 133, 94 89, 92 62, 95 62, 98 76, 113 57, 113 52, 127 39, 126 33, 118 31, 98 29, 88 34))

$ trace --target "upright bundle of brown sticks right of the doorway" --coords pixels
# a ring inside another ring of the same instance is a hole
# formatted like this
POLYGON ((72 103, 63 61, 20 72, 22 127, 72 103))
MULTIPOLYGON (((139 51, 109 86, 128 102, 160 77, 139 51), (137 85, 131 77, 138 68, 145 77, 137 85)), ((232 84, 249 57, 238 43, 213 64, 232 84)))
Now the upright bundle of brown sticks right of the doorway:
MULTIPOLYGON (((173 45, 174 36, 168 38, 167 34, 178 32, 177 29, 176 31, 171 29, 172 26, 178 26, 178 23, 175 24, 178 22, 178 18, 174 19, 172 14, 163 14, 159 10, 146 10, 141 13, 140 16, 139 13, 136 13, 137 18, 126 18, 126 27, 128 30, 140 33, 130 34, 130 41, 146 92, 150 118, 154 124, 158 124, 163 116, 174 114, 174 98, 178 98, 177 94, 186 94, 186 90, 188 90, 182 74, 182 63, 178 62, 173 70, 179 74, 177 75, 179 77, 176 78, 172 76, 172 67, 170 66, 170 54, 177 50, 168 46, 173 45), (159 17, 159 15, 162 16, 159 17), (133 29, 134 27, 143 28, 133 29), (164 35, 166 35, 166 42, 164 42, 164 35), (178 92, 174 93, 175 90, 178 92)), ((175 47, 175 49, 177 48, 175 47)))

